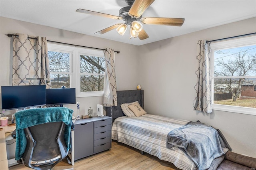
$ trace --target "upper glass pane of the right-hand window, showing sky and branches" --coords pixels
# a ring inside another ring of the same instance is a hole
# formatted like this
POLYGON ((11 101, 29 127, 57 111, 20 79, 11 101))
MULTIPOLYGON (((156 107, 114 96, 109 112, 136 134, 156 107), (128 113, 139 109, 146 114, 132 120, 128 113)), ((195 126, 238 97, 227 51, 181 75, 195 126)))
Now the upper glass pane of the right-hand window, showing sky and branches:
POLYGON ((256 76, 256 45, 215 50, 214 76, 256 76))

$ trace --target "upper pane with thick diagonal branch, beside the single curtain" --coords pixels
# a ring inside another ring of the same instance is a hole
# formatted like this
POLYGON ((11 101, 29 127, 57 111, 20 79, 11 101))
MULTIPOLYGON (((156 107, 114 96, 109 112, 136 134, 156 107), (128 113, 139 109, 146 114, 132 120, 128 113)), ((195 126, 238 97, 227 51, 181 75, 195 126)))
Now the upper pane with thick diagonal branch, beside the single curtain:
POLYGON ((104 74, 104 71, 105 71, 105 59, 103 57, 80 55, 80 72, 81 73, 104 74))

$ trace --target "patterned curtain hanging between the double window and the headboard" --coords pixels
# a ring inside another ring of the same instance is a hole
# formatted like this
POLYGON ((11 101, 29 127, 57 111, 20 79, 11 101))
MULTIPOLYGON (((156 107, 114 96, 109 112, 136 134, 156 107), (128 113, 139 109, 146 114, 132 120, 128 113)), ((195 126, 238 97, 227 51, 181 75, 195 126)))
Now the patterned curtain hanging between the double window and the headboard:
POLYGON ((104 55, 106 68, 104 80, 103 106, 117 106, 114 49, 107 48, 107 50, 104 51, 104 55))

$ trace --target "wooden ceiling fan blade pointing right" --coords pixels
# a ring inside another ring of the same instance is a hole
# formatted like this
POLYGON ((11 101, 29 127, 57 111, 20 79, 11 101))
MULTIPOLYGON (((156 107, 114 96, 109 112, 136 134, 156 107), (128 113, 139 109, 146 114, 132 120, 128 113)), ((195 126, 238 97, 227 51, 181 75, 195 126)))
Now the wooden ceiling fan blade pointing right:
POLYGON ((155 24, 165 26, 182 26, 184 18, 157 18, 157 17, 143 17, 140 19, 142 24, 155 24))

